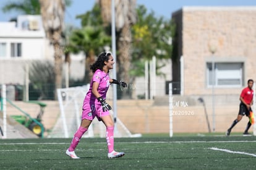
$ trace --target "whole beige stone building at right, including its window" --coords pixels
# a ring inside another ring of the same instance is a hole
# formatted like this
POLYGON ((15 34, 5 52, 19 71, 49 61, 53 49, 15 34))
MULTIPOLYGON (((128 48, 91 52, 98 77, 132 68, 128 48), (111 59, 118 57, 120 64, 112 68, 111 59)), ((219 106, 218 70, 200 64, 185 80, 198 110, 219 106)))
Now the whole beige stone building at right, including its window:
POLYGON ((181 83, 181 95, 211 95, 213 84, 216 96, 239 95, 255 79, 255 16, 256 7, 182 7, 173 13, 173 82, 181 83))

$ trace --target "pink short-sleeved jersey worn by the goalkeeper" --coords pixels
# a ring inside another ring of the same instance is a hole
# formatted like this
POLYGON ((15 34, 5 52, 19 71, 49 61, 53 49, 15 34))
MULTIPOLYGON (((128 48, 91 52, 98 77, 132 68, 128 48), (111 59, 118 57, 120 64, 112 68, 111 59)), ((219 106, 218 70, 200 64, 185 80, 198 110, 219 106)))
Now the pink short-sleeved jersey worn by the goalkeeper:
POLYGON ((100 93, 101 98, 106 99, 106 93, 109 88, 109 75, 106 74, 104 71, 101 70, 96 70, 95 73, 93 74, 93 78, 90 82, 90 88, 85 96, 85 100, 83 100, 83 103, 96 103, 100 104, 96 97, 92 93, 92 85, 93 82, 98 82, 99 87, 98 87, 98 92, 100 93))

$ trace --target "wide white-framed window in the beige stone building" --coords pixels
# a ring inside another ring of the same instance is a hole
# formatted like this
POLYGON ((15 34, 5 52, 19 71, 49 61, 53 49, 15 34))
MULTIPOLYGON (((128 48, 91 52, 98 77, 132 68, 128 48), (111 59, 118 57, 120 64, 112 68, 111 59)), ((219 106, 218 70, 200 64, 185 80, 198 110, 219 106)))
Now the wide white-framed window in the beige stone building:
POLYGON ((207 62, 207 86, 242 87, 243 62, 207 62), (213 72, 214 70, 214 72, 213 72))

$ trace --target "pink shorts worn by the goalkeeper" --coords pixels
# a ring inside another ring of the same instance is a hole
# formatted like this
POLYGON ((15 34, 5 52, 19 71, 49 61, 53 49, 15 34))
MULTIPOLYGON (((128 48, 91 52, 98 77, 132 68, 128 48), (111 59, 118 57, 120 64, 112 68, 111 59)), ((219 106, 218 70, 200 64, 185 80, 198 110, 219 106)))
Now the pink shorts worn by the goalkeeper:
POLYGON ((109 115, 109 111, 103 112, 101 104, 90 104, 90 103, 83 104, 82 120, 88 119, 92 121, 96 116, 98 118, 98 121, 101 121, 100 117, 108 116, 108 115, 109 115))

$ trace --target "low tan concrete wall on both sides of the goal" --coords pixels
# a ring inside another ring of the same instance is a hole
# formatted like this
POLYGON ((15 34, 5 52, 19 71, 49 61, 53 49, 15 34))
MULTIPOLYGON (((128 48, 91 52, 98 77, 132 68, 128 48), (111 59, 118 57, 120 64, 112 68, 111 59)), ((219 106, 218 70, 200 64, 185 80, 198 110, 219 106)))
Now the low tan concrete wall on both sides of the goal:
MULTIPOLYGON (((166 98, 163 98, 166 100, 166 98)), ((58 101, 43 101, 47 104, 42 123, 46 130, 51 130, 60 116, 58 101)), ((21 109, 29 113, 32 117, 36 117, 39 106, 22 101, 14 102, 21 109)), ((113 104, 108 101, 109 104, 113 104)), ((167 101, 168 103, 168 101, 167 101)), ((232 105, 216 105, 215 106, 215 132, 226 132, 231 123, 236 119, 239 106, 234 103, 232 105)), ((173 132, 174 133, 203 133, 208 132, 207 119, 205 111, 208 114, 210 129, 213 129, 213 114, 210 104, 206 103, 204 108, 202 104, 195 103, 190 106, 187 104, 176 104, 173 107, 173 132), (206 110, 205 110, 206 109, 206 110)), ((17 109, 7 104, 7 115, 19 115, 17 109)), ((70 113, 71 114, 71 113, 70 113)), ((126 125, 132 134, 137 133, 169 133, 169 106, 164 104, 160 106, 155 101, 145 100, 120 100, 117 101, 117 117, 126 125)), ((233 132, 244 131, 248 122, 247 117, 243 117, 242 121, 234 127, 233 132)), ((250 128, 252 132, 253 125, 250 128)), ((61 129, 60 129, 61 130, 61 129)), ((48 133, 46 132, 45 136, 48 133)))

